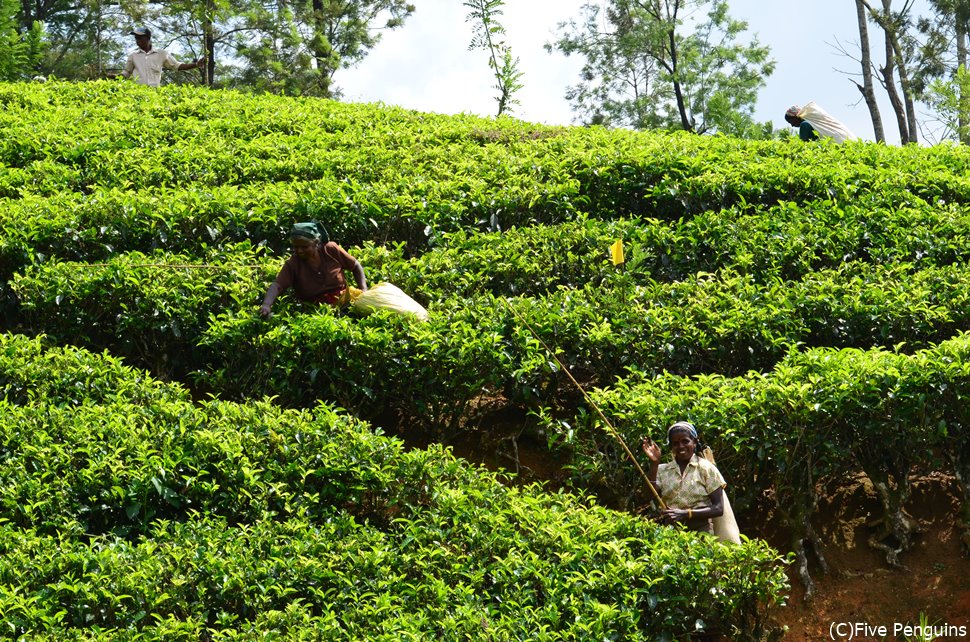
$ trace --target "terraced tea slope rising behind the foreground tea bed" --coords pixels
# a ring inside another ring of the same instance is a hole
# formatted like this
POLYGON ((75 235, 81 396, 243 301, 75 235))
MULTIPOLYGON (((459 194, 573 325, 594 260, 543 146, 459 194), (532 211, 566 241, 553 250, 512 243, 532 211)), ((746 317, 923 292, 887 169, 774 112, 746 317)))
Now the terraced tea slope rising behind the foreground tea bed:
POLYGON ((697 424, 738 511, 778 516, 809 591, 820 490, 846 478, 872 483, 889 564, 918 538, 917 473, 963 480, 948 527, 970 533, 965 148, 113 82, 2 85, 0 104, 5 330, 106 350, 196 398, 322 402, 514 466, 528 445, 558 487, 644 505, 565 367, 628 443, 697 424), (286 298, 261 320, 306 219, 429 321, 286 298))

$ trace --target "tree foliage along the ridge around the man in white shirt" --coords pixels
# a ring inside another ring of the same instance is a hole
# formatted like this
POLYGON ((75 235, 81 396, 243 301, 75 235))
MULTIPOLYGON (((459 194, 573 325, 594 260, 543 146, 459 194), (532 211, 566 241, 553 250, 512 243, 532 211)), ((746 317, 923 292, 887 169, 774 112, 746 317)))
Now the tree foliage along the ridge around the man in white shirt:
MULTIPOLYGON (((383 32, 414 12, 407 0, 12 1, 20 33, 35 21, 44 25, 40 73, 81 79, 117 71, 133 48, 128 33, 139 24, 152 29, 156 47, 186 58, 205 54, 206 84, 324 97, 340 94, 333 81, 338 70, 363 60, 383 32)), ((199 77, 166 81, 189 78, 199 77)))

